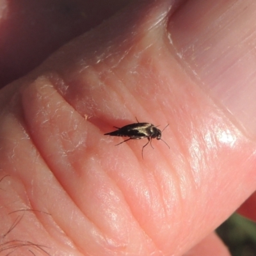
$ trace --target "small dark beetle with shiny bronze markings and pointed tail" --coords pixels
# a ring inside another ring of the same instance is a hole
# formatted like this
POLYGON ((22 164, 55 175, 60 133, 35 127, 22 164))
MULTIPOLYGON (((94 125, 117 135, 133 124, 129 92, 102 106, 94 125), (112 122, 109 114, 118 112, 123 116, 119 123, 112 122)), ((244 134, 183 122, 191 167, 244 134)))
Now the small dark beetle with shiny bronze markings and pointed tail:
POLYGON ((137 120, 137 123, 128 124, 121 128, 114 126, 118 130, 105 133, 104 135, 130 137, 129 139, 124 140, 124 141, 116 144, 115 146, 118 146, 118 145, 124 143, 125 141, 141 140, 143 138, 147 138, 148 142, 142 147, 142 150, 141 150, 142 158, 143 158, 143 149, 148 145, 149 142, 150 142, 151 147, 154 148, 151 144, 151 141, 154 138, 156 138, 157 140, 163 141, 167 145, 167 147, 170 149, 169 145, 164 140, 161 139, 162 132, 164 131, 164 129, 166 127, 168 127, 169 124, 166 125, 166 127, 164 127, 163 131, 161 131, 161 130, 157 129, 157 127, 159 125, 155 126, 154 124, 140 123, 137 118, 136 118, 136 120, 137 120))

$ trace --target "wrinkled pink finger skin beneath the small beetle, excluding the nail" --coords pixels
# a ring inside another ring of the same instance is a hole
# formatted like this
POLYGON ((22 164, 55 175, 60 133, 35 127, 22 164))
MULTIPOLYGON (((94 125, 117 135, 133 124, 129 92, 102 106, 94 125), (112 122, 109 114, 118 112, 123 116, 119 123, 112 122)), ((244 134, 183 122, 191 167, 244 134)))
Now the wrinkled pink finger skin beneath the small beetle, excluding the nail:
POLYGON ((132 3, 2 90, 0 251, 229 255, 212 232, 255 191, 255 141, 179 58, 182 8, 132 3), (170 150, 103 136, 135 117, 170 150))

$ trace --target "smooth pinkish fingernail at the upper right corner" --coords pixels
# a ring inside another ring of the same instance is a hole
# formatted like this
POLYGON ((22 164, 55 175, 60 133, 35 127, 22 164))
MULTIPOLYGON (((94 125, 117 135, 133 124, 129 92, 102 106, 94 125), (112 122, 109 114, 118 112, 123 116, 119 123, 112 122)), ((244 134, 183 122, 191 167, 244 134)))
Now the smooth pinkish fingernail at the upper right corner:
POLYGON ((168 29, 177 54, 212 97, 256 136, 255 4, 188 1, 168 29))

